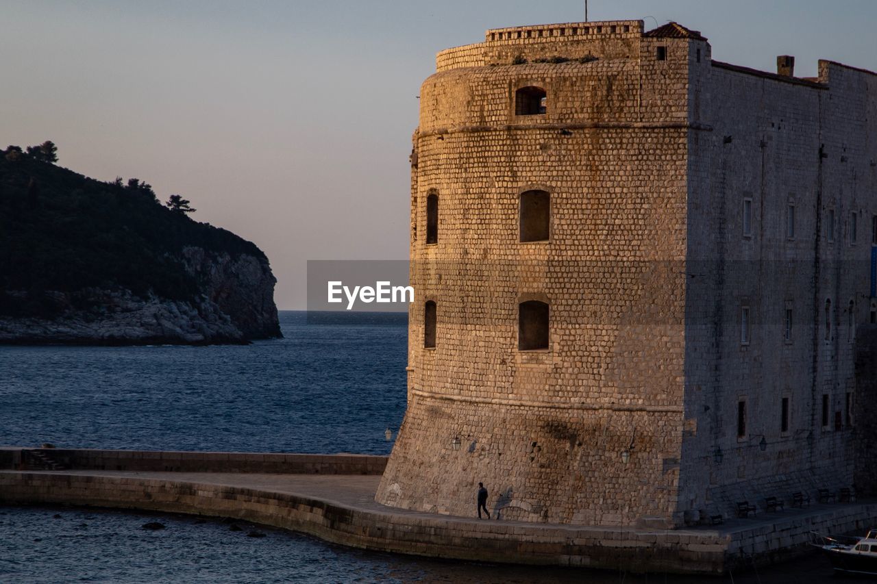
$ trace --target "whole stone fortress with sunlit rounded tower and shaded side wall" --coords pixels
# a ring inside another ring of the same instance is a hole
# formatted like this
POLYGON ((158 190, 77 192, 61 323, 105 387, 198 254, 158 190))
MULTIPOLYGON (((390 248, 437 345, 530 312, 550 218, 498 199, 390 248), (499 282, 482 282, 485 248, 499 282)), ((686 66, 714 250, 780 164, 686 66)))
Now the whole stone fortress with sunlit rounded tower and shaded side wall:
POLYGON ((877 76, 637 20, 491 30, 437 69, 378 502, 473 515, 483 481, 505 519, 675 527, 873 481, 877 76))

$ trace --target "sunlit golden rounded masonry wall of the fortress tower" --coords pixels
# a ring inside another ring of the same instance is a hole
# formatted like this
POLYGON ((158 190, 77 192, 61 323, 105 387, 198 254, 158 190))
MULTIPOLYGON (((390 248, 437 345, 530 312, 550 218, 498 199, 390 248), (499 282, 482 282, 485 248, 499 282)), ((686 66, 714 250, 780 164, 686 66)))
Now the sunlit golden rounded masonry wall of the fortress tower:
POLYGON ((378 502, 472 515, 483 481, 510 519, 681 522, 688 39, 660 39, 656 61, 657 39, 603 25, 574 45, 509 43, 528 61, 596 61, 453 68, 421 89, 409 408, 378 502), (528 85, 546 90, 545 114, 515 114, 528 85), (550 193, 549 241, 518 241, 529 189, 550 193), (517 349, 526 300, 550 304, 547 350, 517 349))

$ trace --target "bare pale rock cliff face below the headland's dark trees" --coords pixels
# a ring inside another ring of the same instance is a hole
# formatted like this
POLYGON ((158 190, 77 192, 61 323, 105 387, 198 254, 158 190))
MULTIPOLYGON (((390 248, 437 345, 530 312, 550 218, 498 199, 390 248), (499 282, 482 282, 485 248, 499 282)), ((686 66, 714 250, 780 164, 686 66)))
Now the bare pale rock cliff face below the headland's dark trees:
POLYGON ((0 343, 201 345, 282 336, 267 261, 200 247, 184 248, 181 260, 202 286, 194 300, 140 297, 121 288, 41 292, 39 298, 7 290, 19 303, 46 310, 39 317, 0 315, 0 343))

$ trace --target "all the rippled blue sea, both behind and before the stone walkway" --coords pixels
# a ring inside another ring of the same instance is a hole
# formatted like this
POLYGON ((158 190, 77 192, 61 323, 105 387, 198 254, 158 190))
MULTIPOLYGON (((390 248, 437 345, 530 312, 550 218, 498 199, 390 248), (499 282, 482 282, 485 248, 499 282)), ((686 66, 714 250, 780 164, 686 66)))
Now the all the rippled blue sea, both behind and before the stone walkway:
MULTIPOLYGON (((407 321, 281 313, 246 346, 0 346, 0 445, 386 454, 405 407, 407 321)), ((0 508, 0 583, 698 582, 348 550, 286 531, 100 509, 0 508), (167 525, 145 531, 148 521, 167 525), (261 531, 265 538, 249 538, 261 531)), ((822 581, 821 558, 712 582, 822 581)))

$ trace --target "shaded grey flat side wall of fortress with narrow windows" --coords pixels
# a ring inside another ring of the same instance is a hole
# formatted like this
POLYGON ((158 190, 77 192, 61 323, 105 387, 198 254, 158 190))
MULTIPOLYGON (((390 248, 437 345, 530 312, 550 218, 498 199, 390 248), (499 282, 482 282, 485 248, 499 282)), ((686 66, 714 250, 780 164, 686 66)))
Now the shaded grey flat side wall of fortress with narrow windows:
POLYGON ((720 63, 692 64, 690 78, 692 123, 709 129, 691 132, 688 159, 680 507, 696 520, 732 516, 738 501, 760 509, 768 496, 788 505, 795 492, 815 500, 818 488, 852 486, 856 420, 847 409, 861 397, 855 327, 867 322, 872 303, 877 77, 823 61, 818 83, 720 63))

